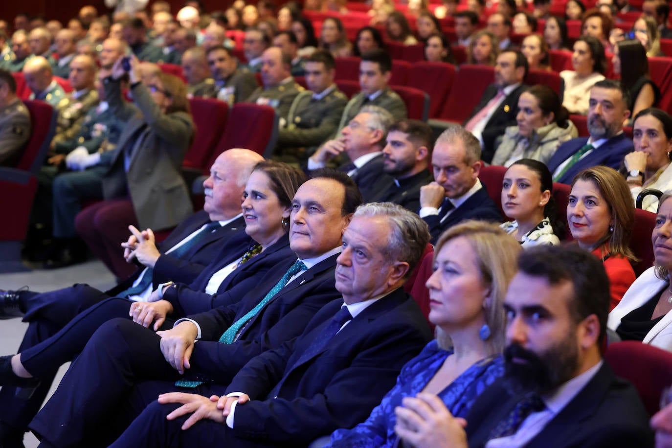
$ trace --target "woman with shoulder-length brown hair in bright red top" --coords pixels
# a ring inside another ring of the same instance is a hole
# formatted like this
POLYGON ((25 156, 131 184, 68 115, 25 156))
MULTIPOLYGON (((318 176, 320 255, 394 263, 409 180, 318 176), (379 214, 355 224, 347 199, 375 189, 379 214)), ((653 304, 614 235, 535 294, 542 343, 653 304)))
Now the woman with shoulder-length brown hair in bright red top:
POLYGON ((635 279, 628 246, 634 223, 634 203, 625 179, 610 167, 581 171, 572 181, 567 222, 579 247, 604 263, 612 297, 609 310, 620 302, 635 279))

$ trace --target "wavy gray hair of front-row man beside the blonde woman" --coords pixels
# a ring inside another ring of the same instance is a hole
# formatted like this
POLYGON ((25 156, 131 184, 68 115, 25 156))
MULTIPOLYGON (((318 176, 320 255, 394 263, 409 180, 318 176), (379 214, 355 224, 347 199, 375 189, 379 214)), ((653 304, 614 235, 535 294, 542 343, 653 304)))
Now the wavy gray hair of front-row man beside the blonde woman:
POLYGON ((387 247, 381 252, 390 260, 390 263, 394 261, 409 263, 409 270, 404 276, 408 278, 415 266, 420 263, 425 247, 429 243, 427 223, 417 214, 391 202, 362 204, 355 210, 353 218, 357 216, 386 216, 388 218, 392 232, 388 235, 387 247))

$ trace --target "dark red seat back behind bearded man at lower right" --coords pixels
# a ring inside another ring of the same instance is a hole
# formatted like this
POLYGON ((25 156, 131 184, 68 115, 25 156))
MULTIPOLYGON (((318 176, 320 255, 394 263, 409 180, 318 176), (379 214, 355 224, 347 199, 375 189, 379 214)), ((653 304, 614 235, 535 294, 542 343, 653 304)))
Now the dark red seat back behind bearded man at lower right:
POLYGON ((638 341, 612 343, 604 354, 616 375, 634 384, 650 415, 660 409, 661 394, 672 384, 672 353, 638 341))

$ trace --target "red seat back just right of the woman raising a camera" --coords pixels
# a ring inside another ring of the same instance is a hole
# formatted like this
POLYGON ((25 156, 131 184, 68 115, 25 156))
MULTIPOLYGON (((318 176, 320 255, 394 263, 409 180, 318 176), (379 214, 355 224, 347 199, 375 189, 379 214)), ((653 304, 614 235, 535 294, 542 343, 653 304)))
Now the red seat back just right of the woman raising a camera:
POLYGON ((222 138, 228 118, 228 103, 212 98, 192 98, 189 103, 196 134, 182 166, 209 169, 206 163, 212 159, 212 152, 222 138))

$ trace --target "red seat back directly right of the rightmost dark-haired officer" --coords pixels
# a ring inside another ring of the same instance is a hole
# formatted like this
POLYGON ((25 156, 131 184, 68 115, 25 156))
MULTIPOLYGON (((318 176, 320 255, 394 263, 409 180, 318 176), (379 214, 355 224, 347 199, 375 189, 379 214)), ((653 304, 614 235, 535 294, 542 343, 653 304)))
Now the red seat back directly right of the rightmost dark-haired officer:
POLYGON ((455 81, 455 66, 446 62, 415 62, 407 85, 429 94, 429 118, 437 118, 455 81))

